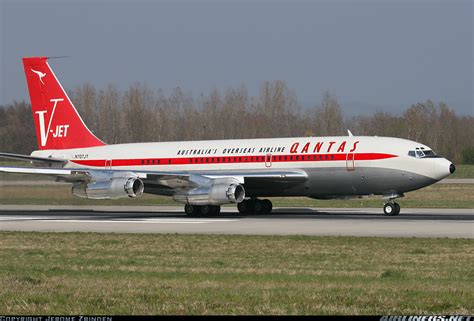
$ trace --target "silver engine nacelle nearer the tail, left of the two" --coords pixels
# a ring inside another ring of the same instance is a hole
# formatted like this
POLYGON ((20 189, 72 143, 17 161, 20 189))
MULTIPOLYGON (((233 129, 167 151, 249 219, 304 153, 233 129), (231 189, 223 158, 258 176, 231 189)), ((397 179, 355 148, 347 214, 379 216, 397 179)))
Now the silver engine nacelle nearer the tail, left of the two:
POLYGON ((116 177, 92 183, 78 183, 72 186, 72 194, 89 199, 118 199, 140 197, 145 185, 136 177, 116 177))

